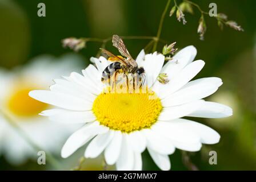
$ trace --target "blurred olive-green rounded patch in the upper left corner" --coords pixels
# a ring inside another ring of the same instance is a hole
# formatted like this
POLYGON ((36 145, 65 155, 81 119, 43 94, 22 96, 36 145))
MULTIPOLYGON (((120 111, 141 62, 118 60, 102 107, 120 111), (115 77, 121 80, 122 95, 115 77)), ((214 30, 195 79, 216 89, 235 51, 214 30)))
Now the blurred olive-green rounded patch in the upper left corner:
POLYGON ((13 2, 0 1, 0 63, 13 67, 27 59, 30 26, 26 13, 13 2))

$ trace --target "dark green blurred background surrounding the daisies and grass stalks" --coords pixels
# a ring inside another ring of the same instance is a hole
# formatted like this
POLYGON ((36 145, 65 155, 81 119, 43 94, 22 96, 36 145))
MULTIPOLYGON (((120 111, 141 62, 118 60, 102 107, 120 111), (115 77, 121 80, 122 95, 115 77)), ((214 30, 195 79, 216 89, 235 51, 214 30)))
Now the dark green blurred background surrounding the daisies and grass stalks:
MULTIPOLYGON (((193 1, 193 0, 192 0, 193 1)), ((181 1, 177 1, 181 2, 181 1)), ((208 11, 211 1, 196 1, 208 11)), ((166 1, 153 0, 33 0, 0 1, 0 66, 11 68, 26 63, 43 53, 59 56, 72 52, 61 46, 61 40, 70 36, 107 38, 113 34, 155 36, 166 1), (37 16, 37 5, 46 5, 46 17, 37 16)), ((171 2, 173 5, 173 1, 171 2)), ((175 16, 166 16, 161 38, 177 42, 182 48, 193 44, 197 59, 206 61, 198 77, 218 76, 224 85, 213 100, 230 105, 233 117, 226 119, 197 119, 214 127, 222 136, 221 142, 204 146, 201 152, 191 154, 191 161, 204 170, 256 169, 256 1, 216 0, 218 13, 225 13, 245 30, 238 32, 229 27, 219 30, 214 18, 206 17, 205 41, 197 34, 199 12, 186 14, 187 24, 179 23, 175 16), (224 127, 225 126, 225 127, 224 127), (209 165, 209 151, 218 152, 218 164, 209 165)), ((126 40, 134 57, 148 43, 147 40, 126 40)), ((89 58, 98 52, 99 43, 87 43, 78 54, 89 58)), ((160 51, 163 44, 158 44, 160 51)), ((111 44, 107 48, 115 51, 111 44)), ((78 160, 74 159, 76 163, 78 160)), ((181 151, 170 156, 172 169, 187 169, 182 163, 181 151)), ((144 169, 158 169, 149 154, 143 154, 144 169)), ((0 158, 0 169, 45 169, 33 162, 13 167, 0 158)))

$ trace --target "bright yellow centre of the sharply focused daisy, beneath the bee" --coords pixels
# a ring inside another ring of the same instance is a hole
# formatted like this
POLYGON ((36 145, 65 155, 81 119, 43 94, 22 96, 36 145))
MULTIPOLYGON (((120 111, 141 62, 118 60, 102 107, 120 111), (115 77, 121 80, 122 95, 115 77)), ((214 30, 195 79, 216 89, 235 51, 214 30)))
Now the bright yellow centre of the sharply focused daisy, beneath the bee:
POLYGON ((154 93, 101 93, 93 104, 101 125, 124 133, 150 128, 161 110, 161 101, 154 93))

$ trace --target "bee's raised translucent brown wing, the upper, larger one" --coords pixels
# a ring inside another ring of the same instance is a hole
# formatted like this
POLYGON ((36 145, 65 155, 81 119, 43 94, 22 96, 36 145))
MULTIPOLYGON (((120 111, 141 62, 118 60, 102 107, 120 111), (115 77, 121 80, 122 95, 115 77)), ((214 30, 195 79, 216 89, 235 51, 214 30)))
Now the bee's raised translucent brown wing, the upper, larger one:
POLYGON ((125 43, 123 43, 123 40, 118 35, 113 35, 112 43, 113 43, 113 46, 118 49, 118 51, 121 53, 122 56, 127 57, 127 60, 135 61, 133 57, 131 57, 130 53, 128 52, 125 46, 125 43))

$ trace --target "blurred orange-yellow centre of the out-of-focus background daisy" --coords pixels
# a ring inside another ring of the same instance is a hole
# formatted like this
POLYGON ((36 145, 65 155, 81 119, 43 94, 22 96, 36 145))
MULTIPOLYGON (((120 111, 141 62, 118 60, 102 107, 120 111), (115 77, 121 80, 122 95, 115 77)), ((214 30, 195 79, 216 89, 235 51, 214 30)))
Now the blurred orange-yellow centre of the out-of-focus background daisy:
POLYGON ((47 104, 29 97, 29 92, 34 88, 18 88, 14 90, 7 100, 7 107, 11 113, 19 117, 33 117, 47 109, 47 104))

